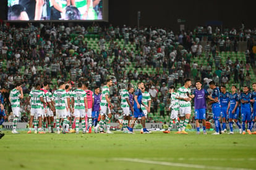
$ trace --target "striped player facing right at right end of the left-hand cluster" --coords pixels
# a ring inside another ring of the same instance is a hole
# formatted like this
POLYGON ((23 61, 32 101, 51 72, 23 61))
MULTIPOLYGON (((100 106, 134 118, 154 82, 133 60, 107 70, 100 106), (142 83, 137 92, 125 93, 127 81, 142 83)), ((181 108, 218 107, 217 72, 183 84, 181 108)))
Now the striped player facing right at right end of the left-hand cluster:
MULTIPOLYGON (((103 126, 104 124, 107 124, 107 133, 111 134, 112 132, 110 132, 110 122, 109 119, 111 119, 112 114, 109 113, 109 108, 113 109, 113 105, 111 104, 110 100, 109 100, 109 87, 111 87, 113 85, 113 82, 111 79, 106 80, 106 85, 103 87, 103 89, 101 90, 101 101, 100 101, 100 115, 101 115, 101 121, 98 125, 100 125, 100 133, 104 134, 105 132, 103 131, 103 126)), ((98 125, 95 127, 94 130, 97 131, 98 125)))

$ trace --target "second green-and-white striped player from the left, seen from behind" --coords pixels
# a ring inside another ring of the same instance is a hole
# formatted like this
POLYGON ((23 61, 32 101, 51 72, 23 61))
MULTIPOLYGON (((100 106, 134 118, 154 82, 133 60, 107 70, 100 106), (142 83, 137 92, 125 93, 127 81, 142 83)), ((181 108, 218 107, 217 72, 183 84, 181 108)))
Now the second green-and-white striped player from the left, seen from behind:
POLYGON ((44 115, 43 104, 46 104, 46 102, 45 100, 43 100, 45 93, 41 91, 40 88, 41 88, 40 83, 36 83, 35 90, 30 91, 28 96, 28 100, 30 100, 30 104, 31 104, 28 134, 31 134, 32 122, 34 118, 36 119, 36 122, 34 122, 35 134, 37 134, 37 119, 38 119, 38 127, 39 127, 38 134, 45 134, 45 132, 42 131, 42 119, 44 115))

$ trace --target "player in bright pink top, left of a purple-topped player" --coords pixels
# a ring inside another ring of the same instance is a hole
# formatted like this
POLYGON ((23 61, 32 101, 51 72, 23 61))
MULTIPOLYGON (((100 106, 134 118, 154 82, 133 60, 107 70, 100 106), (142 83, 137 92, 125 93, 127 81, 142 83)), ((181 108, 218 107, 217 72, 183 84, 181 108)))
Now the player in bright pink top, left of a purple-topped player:
POLYGON ((86 128, 87 128, 87 119, 88 119, 88 123, 89 123, 89 127, 88 127, 88 133, 91 134, 92 133, 92 107, 94 104, 94 95, 93 95, 93 91, 88 89, 89 84, 85 83, 83 85, 83 90, 85 90, 86 92, 86 96, 87 96, 87 101, 88 101, 88 111, 86 112, 85 115, 85 123, 86 123, 86 128))

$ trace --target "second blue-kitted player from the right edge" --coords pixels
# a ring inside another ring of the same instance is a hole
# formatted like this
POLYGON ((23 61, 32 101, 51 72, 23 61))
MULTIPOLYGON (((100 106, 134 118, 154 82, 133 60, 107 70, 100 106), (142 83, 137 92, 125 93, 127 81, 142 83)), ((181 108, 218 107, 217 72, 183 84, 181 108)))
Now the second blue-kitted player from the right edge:
POLYGON ((241 101, 241 115, 242 115, 242 134, 245 135, 245 122, 247 121, 247 132, 249 135, 250 132, 250 122, 252 122, 252 113, 250 108, 250 101, 252 100, 252 93, 249 93, 249 88, 244 86, 243 93, 240 94, 241 101))

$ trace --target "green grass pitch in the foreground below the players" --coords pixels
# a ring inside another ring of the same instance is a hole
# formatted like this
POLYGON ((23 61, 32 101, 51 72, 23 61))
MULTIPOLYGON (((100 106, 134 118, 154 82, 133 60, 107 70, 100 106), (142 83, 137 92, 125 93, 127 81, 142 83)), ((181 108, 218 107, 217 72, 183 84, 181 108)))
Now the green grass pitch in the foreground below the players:
POLYGON ((3 132, 1 169, 256 168, 256 135, 3 132))

